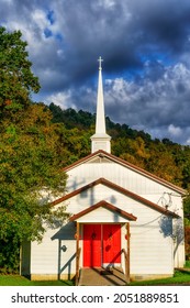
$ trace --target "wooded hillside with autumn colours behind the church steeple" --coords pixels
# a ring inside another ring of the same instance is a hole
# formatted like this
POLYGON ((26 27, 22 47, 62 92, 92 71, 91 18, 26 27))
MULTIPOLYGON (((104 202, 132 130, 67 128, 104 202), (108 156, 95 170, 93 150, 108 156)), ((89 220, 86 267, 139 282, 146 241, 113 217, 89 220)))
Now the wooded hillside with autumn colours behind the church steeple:
MULTIPOLYGON (((96 114, 62 110, 51 103, 54 123, 64 123, 65 145, 70 160, 79 160, 90 153, 90 136, 94 133, 96 114)), ((112 154, 126 160, 183 188, 190 183, 190 147, 172 143, 168 139, 153 140, 143 131, 132 130, 127 124, 113 123, 107 117, 107 132, 112 138, 112 154)))

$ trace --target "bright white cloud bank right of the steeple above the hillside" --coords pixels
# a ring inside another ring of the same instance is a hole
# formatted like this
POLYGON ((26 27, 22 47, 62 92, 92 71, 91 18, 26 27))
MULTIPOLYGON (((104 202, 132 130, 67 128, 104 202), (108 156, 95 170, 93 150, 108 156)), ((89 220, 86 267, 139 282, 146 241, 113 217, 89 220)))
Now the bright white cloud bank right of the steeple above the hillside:
POLYGON ((150 79, 148 75, 138 81, 108 79, 105 107, 115 121, 144 130, 153 138, 187 143, 186 125, 190 124, 189 80, 190 68, 182 63, 164 67, 156 79, 150 79))

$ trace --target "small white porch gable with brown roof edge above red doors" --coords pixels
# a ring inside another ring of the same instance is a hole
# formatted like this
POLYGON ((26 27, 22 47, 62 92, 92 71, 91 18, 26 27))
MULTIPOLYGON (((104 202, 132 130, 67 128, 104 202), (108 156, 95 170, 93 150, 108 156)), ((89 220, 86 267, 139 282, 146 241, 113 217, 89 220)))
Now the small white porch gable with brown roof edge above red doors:
POLYGON ((104 200, 78 212, 70 217, 70 221, 79 223, 125 223, 127 221, 135 221, 137 218, 104 200))

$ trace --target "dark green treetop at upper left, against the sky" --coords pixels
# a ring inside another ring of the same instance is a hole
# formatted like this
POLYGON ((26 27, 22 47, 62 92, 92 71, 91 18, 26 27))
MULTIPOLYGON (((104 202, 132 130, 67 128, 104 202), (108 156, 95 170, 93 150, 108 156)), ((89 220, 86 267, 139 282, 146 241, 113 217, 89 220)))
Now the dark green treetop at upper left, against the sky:
POLYGON ((22 33, 0 28, 0 117, 14 114, 30 103, 32 91, 40 90, 38 78, 31 70, 22 33))

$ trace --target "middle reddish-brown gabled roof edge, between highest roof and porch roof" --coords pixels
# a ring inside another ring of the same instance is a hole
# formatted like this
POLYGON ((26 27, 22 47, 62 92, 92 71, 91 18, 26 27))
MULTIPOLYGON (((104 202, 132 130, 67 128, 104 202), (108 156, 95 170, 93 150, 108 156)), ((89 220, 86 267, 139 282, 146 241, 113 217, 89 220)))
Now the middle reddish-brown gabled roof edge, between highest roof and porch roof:
POLYGON ((127 190, 127 189, 108 180, 108 179, 105 179, 105 178, 99 178, 99 179, 97 179, 97 180, 94 180, 90 184, 87 184, 87 185, 85 185, 85 186, 82 186, 82 187, 63 196, 62 198, 53 201, 52 206, 58 205, 63 201, 66 201, 66 200, 70 199, 71 197, 77 196, 77 195, 81 194, 82 191, 88 190, 88 189, 90 189, 90 188, 92 188, 92 187, 94 187, 99 184, 105 185, 107 187, 110 187, 110 188, 112 188, 112 189, 114 189, 114 190, 116 190, 116 191, 119 191, 119 193, 121 193, 121 194, 123 194, 123 195, 125 195, 125 196, 145 205, 145 206, 148 206, 149 208, 153 208, 154 210, 157 210, 157 211, 159 211, 164 215, 171 216, 174 218, 179 218, 179 216, 177 213, 175 213, 172 211, 169 211, 169 210, 167 210, 167 209, 165 209, 165 208, 163 208, 163 207, 160 207, 160 206, 158 206, 158 205, 156 205, 156 204, 154 204, 154 202, 152 202, 152 201, 149 201, 149 200, 147 200, 147 199, 145 199, 145 198, 143 198, 143 197, 141 197, 141 196, 138 196, 138 195, 136 195, 136 194, 134 194, 134 193, 132 193, 132 191, 130 191, 130 190, 127 190))

